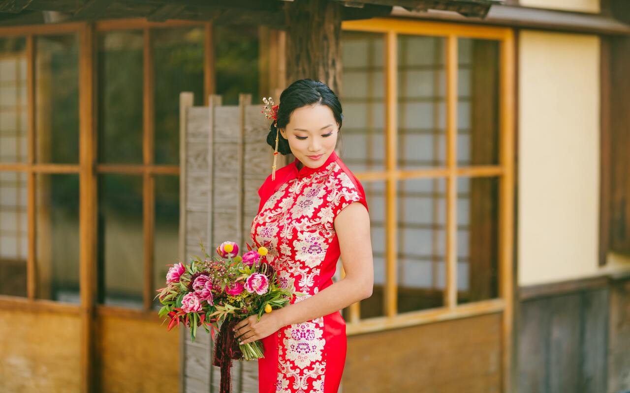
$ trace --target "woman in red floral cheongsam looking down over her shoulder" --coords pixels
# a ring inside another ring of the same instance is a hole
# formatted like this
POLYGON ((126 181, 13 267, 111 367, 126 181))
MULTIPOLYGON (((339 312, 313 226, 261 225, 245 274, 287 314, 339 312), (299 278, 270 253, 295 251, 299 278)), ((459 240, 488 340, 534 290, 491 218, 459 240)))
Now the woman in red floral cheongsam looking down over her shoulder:
POLYGON ((297 80, 280 95, 268 143, 295 161, 258 190, 251 226, 256 246, 281 285, 302 292, 292 304, 260 321, 251 316, 234 330, 241 343, 262 340, 259 391, 336 392, 346 355, 340 309, 372 294, 370 220, 363 187, 335 153, 341 104, 322 82, 297 80), (333 284, 341 255, 345 277, 333 284))

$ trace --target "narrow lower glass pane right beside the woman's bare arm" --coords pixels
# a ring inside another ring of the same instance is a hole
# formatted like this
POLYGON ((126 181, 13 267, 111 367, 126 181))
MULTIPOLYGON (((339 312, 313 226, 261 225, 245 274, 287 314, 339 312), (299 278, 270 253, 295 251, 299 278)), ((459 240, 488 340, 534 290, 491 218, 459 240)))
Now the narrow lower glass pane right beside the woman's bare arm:
POLYGON ((363 182, 365 199, 370 208, 370 238, 374 260, 372 296, 361 301, 361 318, 384 315, 385 293, 385 182, 363 182))

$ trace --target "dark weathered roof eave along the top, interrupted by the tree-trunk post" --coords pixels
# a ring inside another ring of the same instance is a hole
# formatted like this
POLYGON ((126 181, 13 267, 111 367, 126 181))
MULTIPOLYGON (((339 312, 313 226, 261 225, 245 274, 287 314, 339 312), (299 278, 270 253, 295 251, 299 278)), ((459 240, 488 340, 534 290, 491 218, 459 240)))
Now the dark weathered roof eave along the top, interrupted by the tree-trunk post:
MULTIPOLYGON (((303 6, 306 1, 296 0, 303 6)), ((319 0, 318 0, 319 1, 319 0)), ((407 9, 441 9, 483 18, 500 0, 340 0, 329 1, 343 19, 367 19, 389 14, 392 6, 407 9)), ((260 0, 0 0, 0 13, 57 11, 74 20, 147 18, 152 21, 188 19, 218 23, 255 23, 275 28, 292 24, 285 18, 284 1, 260 0)), ((306 8, 306 7, 305 7, 306 8)), ((321 26, 320 26, 321 27, 321 26)))

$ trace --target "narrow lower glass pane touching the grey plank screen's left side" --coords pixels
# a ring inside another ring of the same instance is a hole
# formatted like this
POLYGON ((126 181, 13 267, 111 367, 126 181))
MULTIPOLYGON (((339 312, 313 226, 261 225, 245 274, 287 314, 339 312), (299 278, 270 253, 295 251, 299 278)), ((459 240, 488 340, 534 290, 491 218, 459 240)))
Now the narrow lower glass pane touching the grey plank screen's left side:
MULTIPOLYGON (((158 289, 166 283, 167 265, 180 258, 180 177, 156 176, 155 196, 153 283, 158 289)), ((153 302, 161 306, 157 299, 153 302)))

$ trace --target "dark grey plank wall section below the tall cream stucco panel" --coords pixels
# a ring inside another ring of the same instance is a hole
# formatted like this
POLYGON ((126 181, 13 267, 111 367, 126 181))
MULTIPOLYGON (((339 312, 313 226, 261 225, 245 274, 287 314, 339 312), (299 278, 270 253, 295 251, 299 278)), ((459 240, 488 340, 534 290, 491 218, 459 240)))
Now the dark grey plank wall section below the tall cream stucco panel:
POLYGON ((519 393, 607 391, 609 288, 569 284, 521 291, 519 393))

